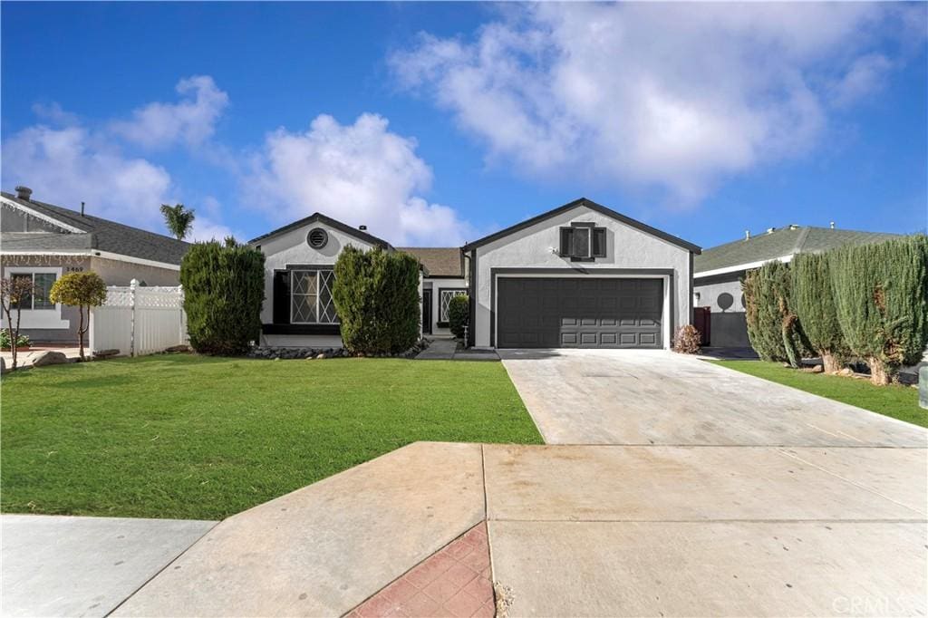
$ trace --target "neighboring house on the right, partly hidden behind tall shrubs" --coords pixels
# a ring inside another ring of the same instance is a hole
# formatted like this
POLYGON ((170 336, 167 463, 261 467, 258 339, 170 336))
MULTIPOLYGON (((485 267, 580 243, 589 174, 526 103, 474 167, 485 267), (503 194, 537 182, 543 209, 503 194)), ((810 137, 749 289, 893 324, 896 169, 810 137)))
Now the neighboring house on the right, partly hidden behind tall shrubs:
POLYGON ((819 252, 845 244, 867 244, 896 234, 855 232, 833 227, 787 225, 771 227, 766 233, 728 242, 702 251, 694 272, 693 304, 710 311, 710 341, 714 347, 750 347, 744 314, 741 279, 767 262, 790 262, 797 253, 819 252))

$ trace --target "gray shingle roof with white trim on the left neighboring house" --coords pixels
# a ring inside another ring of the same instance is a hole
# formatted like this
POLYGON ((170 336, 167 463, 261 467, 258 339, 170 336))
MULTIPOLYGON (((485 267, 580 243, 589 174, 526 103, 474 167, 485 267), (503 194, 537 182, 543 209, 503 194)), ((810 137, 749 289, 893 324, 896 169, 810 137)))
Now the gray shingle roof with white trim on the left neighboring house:
POLYGON ((6 200, 24 209, 38 212, 64 224, 71 229, 81 231, 60 234, 4 232, 3 249, 11 251, 54 252, 54 251, 108 251, 129 257, 135 257, 163 264, 180 264, 190 244, 154 232, 148 232, 131 225, 123 225, 103 219, 92 214, 82 215, 55 204, 44 201, 19 200, 15 195, 0 192, 6 200))

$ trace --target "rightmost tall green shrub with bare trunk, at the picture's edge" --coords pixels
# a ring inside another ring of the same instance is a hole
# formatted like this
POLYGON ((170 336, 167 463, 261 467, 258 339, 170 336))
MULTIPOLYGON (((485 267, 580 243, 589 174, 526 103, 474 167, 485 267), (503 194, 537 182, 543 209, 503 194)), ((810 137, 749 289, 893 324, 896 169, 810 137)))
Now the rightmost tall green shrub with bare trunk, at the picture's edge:
POLYGON ((888 384, 922 358, 928 342, 928 237, 922 234, 830 255, 838 323, 870 380, 888 384))

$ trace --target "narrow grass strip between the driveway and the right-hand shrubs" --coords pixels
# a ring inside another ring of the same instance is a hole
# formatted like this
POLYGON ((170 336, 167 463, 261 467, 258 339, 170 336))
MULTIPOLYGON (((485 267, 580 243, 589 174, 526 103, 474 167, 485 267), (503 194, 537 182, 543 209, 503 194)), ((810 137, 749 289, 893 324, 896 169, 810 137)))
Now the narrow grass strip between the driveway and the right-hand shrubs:
POLYGON ((814 393, 843 404, 862 407, 887 417, 928 427, 928 410, 919 407, 918 389, 910 386, 873 386, 868 380, 804 373, 783 367, 780 363, 755 360, 712 362, 758 378, 792 386, 806 393, 814 393))

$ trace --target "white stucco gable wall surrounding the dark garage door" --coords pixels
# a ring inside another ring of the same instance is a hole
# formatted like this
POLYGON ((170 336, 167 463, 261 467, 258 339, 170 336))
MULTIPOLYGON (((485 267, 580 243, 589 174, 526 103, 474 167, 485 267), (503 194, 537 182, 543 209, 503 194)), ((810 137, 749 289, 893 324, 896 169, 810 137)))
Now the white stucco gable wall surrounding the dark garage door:
MULTIPOLYGON (((562 268, 565 275, 572 269, 583 268, 664 268, 672 269, 673 290, 669 295, 673 303, 673 323, 664 328, 664 346, 669 347, 672 333, 679 325, 690 322, 690 251, 651 236, 635 227, 625 225, 612 217, 591 210, 584 205, 532 225, 505 238, 499 238, 479 247, 476 268, 476 309, 474 316, 474 343, 489 346, 491 322, 493 268, 562 268), (558 255, 560 231, 572 222, 588 222, 605 227, 607 232, 605 258, 595 262, 571 262, 558 255), (671 336, 668 336, 668 331, 671 336)), ((577 276, 583 275, 577 273, 577 276)), ((550 275, 548 275, 550 277, 550 275)), ((587 276, 588 277, 588 276, 587 276)), ((668 307, 665 306, 664 315, 668 307)))

